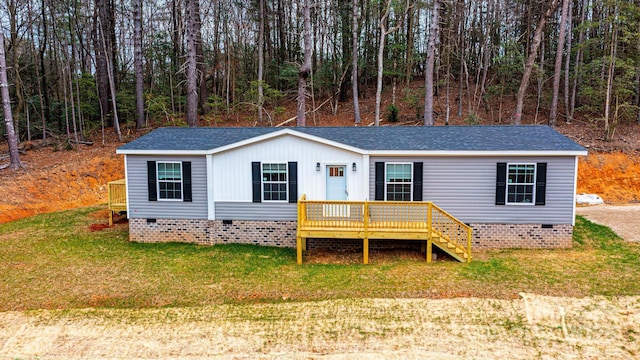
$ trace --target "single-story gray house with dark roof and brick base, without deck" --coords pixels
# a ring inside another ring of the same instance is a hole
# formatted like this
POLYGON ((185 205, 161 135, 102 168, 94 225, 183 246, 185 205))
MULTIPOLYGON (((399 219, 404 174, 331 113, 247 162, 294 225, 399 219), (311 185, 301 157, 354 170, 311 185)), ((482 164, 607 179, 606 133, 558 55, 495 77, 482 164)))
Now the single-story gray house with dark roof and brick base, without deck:
POLYGON ((527 125, 161 128, 117 153, 132 241, 296 247, 304 194, 429 201, 474 248, 564 248, 587 151, 527 125))

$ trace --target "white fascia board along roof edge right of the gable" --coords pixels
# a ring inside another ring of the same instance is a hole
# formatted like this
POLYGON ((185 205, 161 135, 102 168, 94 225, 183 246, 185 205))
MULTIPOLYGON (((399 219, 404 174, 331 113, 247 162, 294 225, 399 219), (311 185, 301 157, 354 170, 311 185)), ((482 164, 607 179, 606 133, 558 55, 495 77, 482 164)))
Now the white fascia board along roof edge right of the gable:
POLYGON ((451 150, 373 150, 371 156, 586 156, 586 151, 451 151, 451 150))

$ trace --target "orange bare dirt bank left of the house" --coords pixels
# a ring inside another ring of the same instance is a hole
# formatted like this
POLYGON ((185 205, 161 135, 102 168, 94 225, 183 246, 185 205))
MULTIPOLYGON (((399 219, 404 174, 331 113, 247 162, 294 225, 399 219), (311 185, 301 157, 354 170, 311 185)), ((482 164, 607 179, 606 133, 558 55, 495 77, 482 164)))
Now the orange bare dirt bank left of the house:
POLYGON ((96 139, 75 150, 33 147, 21 155, 23 169, 0 171, 0 223, 106 203, 106 184, 124 177, 118 145, 96 139))

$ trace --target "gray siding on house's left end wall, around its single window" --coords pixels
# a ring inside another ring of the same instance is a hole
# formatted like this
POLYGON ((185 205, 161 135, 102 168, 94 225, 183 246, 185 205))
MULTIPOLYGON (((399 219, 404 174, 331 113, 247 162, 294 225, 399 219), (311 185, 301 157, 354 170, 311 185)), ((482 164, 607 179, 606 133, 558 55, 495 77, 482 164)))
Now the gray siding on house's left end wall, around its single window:
POLYGON ((207 166, 204 156, 127 155, 129 217, 140 219, 207 219, 207 166), (192 202, 149 201, 147 161, 191 161, 192 202))

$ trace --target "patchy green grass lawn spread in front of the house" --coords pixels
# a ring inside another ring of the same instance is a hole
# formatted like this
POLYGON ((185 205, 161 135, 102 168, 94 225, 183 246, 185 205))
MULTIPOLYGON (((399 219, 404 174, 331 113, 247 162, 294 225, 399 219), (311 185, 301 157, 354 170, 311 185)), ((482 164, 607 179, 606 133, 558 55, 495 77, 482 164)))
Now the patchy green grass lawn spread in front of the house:
POLYGON ((136 244, 98 208, 0 225, 0 311, 186 307, 346 298, 640 294, 640 247, 578 218, 574 247, 476 251, 470 264, 295 263, 295 249, 136 244))

